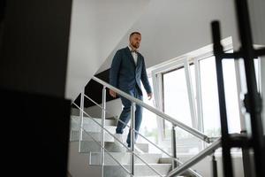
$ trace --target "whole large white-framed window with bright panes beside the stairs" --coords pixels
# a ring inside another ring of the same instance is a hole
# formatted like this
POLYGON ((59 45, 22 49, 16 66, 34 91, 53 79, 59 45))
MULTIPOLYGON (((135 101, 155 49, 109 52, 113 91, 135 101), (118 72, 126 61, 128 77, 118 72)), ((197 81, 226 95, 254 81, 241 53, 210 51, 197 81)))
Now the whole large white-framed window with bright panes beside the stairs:
MULTIPOLYGON (((232 52, 231 39, 226 41, 225 52, 232 52)), ((209 137, 221 135, 216 58, 212 46, 183 57, 173 59, 152 71, 155 83, 157 108, 189 127, 202 131, 209 137)), ((246 93, 244 63, 240 60, 223 59, 223 84, 229 133, 240 133, 247 122, 242 114, 242 95, 246 93)), ((261 62, 254 59, 258 90, 261 92, 261 62)), ((247 119, 246 119, 247 120, 247 119)), ((170 146, 172 125, 167 120, 158 121, 163 127, 163 144, 170 146)), ((159 127, 158 125, 158 127, 159 127)), ((178 153, 198 152, 201 141, 176 128, 178 153)))

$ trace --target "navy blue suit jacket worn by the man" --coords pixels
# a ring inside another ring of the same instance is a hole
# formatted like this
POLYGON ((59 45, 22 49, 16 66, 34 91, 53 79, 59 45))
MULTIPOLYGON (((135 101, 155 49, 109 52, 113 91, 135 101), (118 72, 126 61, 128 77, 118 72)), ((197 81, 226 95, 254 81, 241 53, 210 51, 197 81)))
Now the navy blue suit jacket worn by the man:
MULTIPOLYGON (((140 90, 140 81, 142 81, 147 93, 151 93, 144 58, 139 52, 137 53, 137 65, 135 65, 129 47, 117 50, 110 67, 110 85, 129 93, 133 89, 140 90)), ((140 94, 142 95, 141 90, 140 94)))

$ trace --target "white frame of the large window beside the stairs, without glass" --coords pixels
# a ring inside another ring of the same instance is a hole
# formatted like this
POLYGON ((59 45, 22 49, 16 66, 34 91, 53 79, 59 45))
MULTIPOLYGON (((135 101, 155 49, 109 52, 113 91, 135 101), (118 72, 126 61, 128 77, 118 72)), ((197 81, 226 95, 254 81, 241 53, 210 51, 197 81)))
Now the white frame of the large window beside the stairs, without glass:
MULTIPOLYGON (((233 50, 232 40, 231 37, 222 40, 224 52, 229 50, 233 50)), ((164 111, 164 103, 163 103, 163 74, 169 73, 174 71, 180 67, 185 67, 186 70, 186 84, 189 96, 189 104, 190 109, 193 109, 193 113, 191 112, 191 119, 193 122, 193 128, 198 129, 201 132, 204 132, 205 128, 203 127, 203 115, 202 115, 202 99, 201 99, 201 68, 200 68, 200 61, 205 58, 209 58, 214 56, 212 45, 208 45, 204 48, 199 50, 195 50, 194 52, 187 53, 184 56, 180 56, 178 58, 173 58, 167 62, 164 62, 160 65, 153 66, 148 71, 149 75, 152 77, 153 81, 153 88, 154 88, 154 98, 155 98, 155 107, 160 111, 164 111), (199 51, 199 52, 197 52, 199 51), (197 52, 197 53, 196 53, 197 52), (198 54, 199 53, 199 54, 198 54), (191 78, 191 70, 190 65, 194 65, 194 72, 195 72, 195 85, 192 84, 191 78), (194 97, 193 88, 195 87, 196 91, 196 99, 194 97), (193 98, 190 98, 192 96, 193 98), (191 106, 192 105, 192 106, 191 106), (196 107, 197 109, 196 109, 196 107), (192 108, 191 108, 192 107, 192 108)), ((235 63, 235 74, 236 74, 236 81, 237 81, 237 93, 238 93, 238 104, 239 104, 239 121, 240 121, 240 129, 246 129, 246 115, 242 112, 241 108, 243 106, 242 101, 242 88, 241 88, 241 77, 242 73, 240 73, 240 65, 239 59, 234 60, 235 63)), ((259 90, 261 90, 261 58, 259 58, 259 65, 258 65, 258 86, 259 90)), ((264 89, 263 89, 264 90, 264 89)), ((157 116, 157 126, 159 130, 158 134, 158 143, 162 146, 170 146, 170 139, 165 138, 165 130, 164 130, 164 120, 157 116)), ((201 148, 205 148, 207 143, 201 143, 201 148)))

